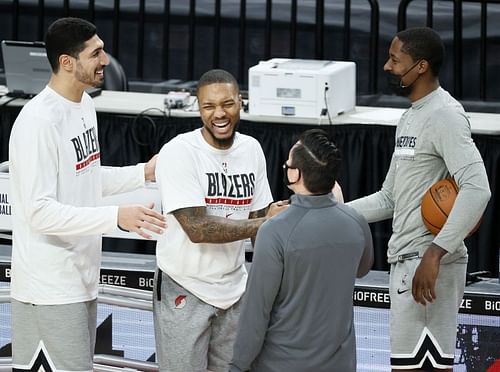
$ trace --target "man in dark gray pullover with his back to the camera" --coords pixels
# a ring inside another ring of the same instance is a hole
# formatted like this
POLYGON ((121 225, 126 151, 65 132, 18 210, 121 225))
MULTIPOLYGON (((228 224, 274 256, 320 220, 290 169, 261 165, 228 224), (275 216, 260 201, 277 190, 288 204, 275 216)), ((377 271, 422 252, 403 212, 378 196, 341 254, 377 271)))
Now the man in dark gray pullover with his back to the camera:
POLYGON ((321 130, 290 150, 295 195, 257 233, 230 371, 356 370, 352 294, 373 247, 364 218, 330 193, 339 162, 321 130))

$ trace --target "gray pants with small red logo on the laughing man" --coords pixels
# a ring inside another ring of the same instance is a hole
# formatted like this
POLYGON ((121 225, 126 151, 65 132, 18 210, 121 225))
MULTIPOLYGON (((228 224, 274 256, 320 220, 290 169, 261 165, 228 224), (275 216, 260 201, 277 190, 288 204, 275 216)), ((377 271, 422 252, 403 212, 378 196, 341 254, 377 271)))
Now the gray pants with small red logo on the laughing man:
POLYGON ((158 270, 155 273, 153 300, 160 371, 227 371, 233 356, 241 300, 221 310, 160 273, 159 286, 158 270))

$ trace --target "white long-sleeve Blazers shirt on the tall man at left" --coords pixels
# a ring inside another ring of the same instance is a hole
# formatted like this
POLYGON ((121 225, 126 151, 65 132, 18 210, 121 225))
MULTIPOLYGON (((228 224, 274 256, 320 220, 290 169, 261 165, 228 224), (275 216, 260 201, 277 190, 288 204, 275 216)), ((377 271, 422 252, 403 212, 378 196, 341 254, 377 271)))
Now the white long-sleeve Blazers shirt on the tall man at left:
POLYGON ((46 87, 17 117, 9 142, 11 295, 40 305, 97 297, 101 234, 117 228, 103 195, 144 185, 144 165, 101 168, 92 99, 46 87))

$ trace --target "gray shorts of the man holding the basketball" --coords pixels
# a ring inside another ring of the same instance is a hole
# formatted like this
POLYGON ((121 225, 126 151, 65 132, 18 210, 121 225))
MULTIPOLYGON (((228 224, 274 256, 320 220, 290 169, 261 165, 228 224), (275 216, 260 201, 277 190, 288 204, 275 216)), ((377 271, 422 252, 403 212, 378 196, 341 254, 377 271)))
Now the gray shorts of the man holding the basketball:
POLYGON ((420 261, 413 259, 391 265, 391 367, 453 368, 457 313, 464 294, 467 265, 441 265, 436 299, 423 306, 411 294, 420 261))

